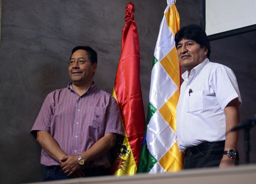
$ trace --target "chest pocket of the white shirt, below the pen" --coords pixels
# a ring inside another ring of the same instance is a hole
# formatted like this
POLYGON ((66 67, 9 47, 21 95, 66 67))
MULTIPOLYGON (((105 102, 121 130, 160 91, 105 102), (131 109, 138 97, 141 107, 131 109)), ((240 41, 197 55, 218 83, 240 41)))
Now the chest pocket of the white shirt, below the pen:
POLYGON ((203 91, 191 92, 187 100, 187 112, 196 112, 203 109, 203 91))

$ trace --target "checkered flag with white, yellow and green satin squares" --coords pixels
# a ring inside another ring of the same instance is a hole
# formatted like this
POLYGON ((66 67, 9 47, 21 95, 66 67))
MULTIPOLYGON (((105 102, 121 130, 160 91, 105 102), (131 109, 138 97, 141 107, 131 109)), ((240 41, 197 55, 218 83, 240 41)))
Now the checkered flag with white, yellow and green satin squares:
POLYGON ((176 135, 176 105, 181 68, 174 35, 179 30, 175 0, 167 0, 154 52, 148 114, 137 172, 166 172, 182 169, 176 135))

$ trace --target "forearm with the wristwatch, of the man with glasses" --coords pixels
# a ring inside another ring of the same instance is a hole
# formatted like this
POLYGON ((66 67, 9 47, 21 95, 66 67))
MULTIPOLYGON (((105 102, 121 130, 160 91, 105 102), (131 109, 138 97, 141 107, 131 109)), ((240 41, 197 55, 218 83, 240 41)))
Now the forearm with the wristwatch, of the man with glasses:
POLYGON ((115 145, 116 137, 117 135, 114 133, 106 133, 102 138, 94 143, 92 147, 83 152, 81 156, 85 162, 99 158, 115 145))

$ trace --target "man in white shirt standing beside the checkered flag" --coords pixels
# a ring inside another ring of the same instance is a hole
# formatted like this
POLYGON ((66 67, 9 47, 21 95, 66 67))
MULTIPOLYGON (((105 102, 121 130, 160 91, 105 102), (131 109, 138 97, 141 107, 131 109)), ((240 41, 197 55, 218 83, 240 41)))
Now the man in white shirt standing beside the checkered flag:
POLYGON ((229 130, 240 122, 242 101, 233 71, 209 61, 210 43, 200 26, 183 27, 175 42, 180 64, 187 70, 176 107, 183 168, 238 164, 239 132, 229 130))

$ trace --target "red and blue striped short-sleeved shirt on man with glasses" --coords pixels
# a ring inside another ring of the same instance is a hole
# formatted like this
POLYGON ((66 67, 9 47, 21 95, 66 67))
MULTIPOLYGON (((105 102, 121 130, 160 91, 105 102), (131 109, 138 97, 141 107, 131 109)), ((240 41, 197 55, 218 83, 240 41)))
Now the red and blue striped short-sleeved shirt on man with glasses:
MULTIPOLYGON (((72 90, 71 84, 47 95, 31 129, 35 137, 37 130, 47 131, 67 155, 78 155, 88 150, 105 133, 123 135, 119 107, 111 94, 98 90, 94 83, 79 96, 72 90)), ((60 165, 43 149, 41 164, 60 165)), ((85 164, 85 167, 110 166, 109 152, 85 164)))

